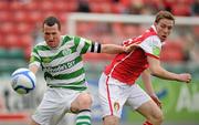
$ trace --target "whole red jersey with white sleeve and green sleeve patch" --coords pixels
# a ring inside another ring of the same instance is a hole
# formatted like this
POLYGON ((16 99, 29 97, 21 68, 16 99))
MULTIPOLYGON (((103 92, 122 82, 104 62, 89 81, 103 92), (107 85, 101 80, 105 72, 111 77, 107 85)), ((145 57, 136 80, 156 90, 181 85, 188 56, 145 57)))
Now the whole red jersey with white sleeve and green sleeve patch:
POLYGON ((159 59, 161 42, 153 25, 144 34, 123 42, 123 45, 136 43, 140 48, 130 53, 117 54, 106 66, 105 74, 123 83, 134 84, 140 73, 148 67, 147 55, 159 59))

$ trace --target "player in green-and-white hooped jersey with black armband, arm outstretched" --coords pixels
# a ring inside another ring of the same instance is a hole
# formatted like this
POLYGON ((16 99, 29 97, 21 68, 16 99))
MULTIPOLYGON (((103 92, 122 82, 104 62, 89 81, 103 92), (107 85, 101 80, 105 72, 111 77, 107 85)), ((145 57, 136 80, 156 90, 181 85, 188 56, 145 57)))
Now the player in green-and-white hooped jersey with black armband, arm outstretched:
MULTIPOLYGON (((43 21, 43 33, 44 42, 33 48, 29 69, 35 74, 42 67, 49 87, 32 115, 31 125, 50 125, 54 116, 63 116, 66 112, 76 114, 76 125, 91 125, 92 97, 86 91, 82 55, 87 52, 129 52, 130 46, 101 44, 80 37, 61 35, 60 21, 54 17, 43 21)), ((59 119, 61 117, 56 123, 59 119)))

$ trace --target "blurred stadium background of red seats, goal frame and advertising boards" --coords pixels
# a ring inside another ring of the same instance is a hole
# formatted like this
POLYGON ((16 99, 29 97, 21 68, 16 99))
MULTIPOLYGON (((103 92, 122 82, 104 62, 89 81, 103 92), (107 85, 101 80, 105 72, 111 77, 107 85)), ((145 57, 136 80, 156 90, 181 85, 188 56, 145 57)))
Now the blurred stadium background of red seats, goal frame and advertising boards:
MULTIPOLYGON (((164 104, 164 125, 199 125, 199 0, 0 0, 0 125, 28 125, 42 98, 45 90, 42 72, 38 74, 36 90, 24 96, 15 94, 9 82, 15 69, 28 66, 31 48, 43 40, 41 23, 45 17, 56 15, 63 34, 121 44, 149 28, 159 10, 169 10, 177 17, 175 31, 163 49, 163 65, 193 76, 191 85, 153 77, 164 104)), ((86 79, 95 98, 94 125, 101 124, 97 81, 112 58, 107 54, 84 58, 86 79)), ((142 125, 144 121, 128 107, 123 114, 122 125, 142 125)), ((65 117, 65 124, 73 125, 73 118, 65 117)))

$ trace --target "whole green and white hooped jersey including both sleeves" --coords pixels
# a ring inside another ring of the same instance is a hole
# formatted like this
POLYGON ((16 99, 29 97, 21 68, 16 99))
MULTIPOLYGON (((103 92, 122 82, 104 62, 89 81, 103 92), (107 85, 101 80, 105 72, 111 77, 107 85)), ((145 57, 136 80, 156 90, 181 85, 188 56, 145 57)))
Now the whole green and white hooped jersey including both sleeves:
POLYGON ((49 48, 45 42, 36 44, 31 53, 30 65, 42 66, 48 86, 84 91, 86 81, 82 54, 100 51, 101 44, 92 43, 91 40, 62 35, 57 49, 49 48))

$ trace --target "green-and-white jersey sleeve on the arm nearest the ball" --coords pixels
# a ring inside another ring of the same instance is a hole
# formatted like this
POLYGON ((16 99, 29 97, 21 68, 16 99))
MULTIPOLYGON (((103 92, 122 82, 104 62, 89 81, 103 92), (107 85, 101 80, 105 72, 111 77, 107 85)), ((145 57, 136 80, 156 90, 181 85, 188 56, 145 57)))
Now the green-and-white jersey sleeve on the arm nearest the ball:
POLYGON ((33 64, 35 64, 38 66, 41 65, 41 58, 38 54, 36 46, 34 46, 32 52, 31 52, 31 58, 30 58, 29 65, 33 65, 33 64))

